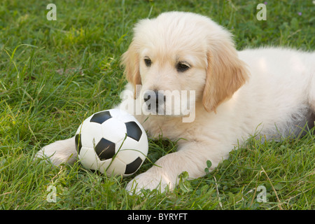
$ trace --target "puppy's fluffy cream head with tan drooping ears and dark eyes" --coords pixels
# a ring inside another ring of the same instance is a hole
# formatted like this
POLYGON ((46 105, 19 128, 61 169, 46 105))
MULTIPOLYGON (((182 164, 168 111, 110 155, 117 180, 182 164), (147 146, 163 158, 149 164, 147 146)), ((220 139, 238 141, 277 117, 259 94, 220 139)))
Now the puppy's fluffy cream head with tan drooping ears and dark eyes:
MULTIPOLYGON (((156 96, 158 92, 178 91, 182 98, 185 91, 194 91, 195 101, 207 111, 215 111, 230 99, 248 78, 231 34, 194 13, 162 13, 158 18, 141 20, 134 27, 123 64, 127 80, 134 87, 142 85, 142 94, 134 97, 146 101, 148 91, 156 96)), ((176 102, 174 95, 163 98, 165 102, 176 102)), ((189 103, 189 99, 181 102, 181 107, 189 103)))

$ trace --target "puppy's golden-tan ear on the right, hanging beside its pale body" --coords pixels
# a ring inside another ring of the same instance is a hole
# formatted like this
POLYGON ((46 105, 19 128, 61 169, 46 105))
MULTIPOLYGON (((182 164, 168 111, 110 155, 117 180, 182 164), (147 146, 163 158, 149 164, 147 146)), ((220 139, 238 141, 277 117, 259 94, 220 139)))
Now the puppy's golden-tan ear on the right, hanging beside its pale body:
POLYGON ((216 111, 248 79, 246 64, 239 59, 237 50, 227 33, 225 38, 211 41, 207 52, 207 77, 202 103, 207 111, 216 111))

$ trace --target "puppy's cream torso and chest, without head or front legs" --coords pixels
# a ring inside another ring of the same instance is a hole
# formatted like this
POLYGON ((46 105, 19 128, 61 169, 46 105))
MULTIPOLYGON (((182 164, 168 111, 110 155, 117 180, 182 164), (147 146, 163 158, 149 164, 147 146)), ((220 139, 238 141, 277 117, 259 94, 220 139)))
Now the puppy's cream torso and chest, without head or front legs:
POLYGON ((311 90, 315 78, 309 75, 315 73, 314 53, 260 48, 238 54, 248 64, 251 76, 231 99, 218 106, 216 113, 205 111, 201 102, 197 102, 193 123, 183 123, 181 118, 174 117, 135 115, 139 120, 148 119, 143 125, 151 137, 162 134, 174 140, 193 140, 211 132, 216 136, 222 130, 221 134, 232 136, 234 141, 235 133, 237 139, 246 139, 255 132, 267 139, 279 139, 297 137, 306 122, 309 128, 314 126, 311 90))

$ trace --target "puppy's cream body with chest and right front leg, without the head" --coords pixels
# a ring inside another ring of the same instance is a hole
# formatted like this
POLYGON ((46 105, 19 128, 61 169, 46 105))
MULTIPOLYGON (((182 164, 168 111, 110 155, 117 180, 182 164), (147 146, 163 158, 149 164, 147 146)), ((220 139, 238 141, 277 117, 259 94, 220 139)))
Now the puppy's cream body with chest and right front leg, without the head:
MULTIPOLYGON (((261 48, 243 50, 239 52, 239 58, 248 64, 251 76, 231 99, 216 108, 216 113, 207 112, 202 102, 196 102, 193 123, 167 116, 136 115, 151 137, 162 135, 172 140, 185 139, 178 141, 177 155, 172 153, 167 155, 169 159, 166 156, 158 160, 157 164, 162 168, 153 167, 147 175, 139 175, 138 182, 145 183, 141 187, 155 187, 150 183, 156 176, 176 180, 176 174, 183 171, 187 171, 191 178, 203 176, 207 160, 211 160, 214 169, 228 158, 235 146, 251 135, 258 134, 263 140, 281 140, 297 137, 303 130, 314 126, 314 109, 311 107, 314 106, 311 104, 314 93, 311 91, 315 79, 310 75, 315 74, 314 53, 261 48)), ((165 182, 171 187, 175 184, 174 181, 165 182)), ((132 188, 131 184, 128 188, 132 188)))

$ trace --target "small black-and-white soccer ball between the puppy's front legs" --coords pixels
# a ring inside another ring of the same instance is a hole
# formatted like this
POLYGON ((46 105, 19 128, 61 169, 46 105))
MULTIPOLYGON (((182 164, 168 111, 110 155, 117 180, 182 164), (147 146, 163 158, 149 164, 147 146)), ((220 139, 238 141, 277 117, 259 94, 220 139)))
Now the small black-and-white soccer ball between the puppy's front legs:
POLYGON ((130 176, 148 154, 148 137, 134 116, 120 109, 94 113, 76 132, 78 159, 107 176, 130 176))

